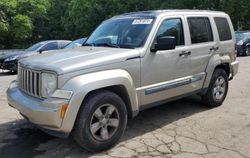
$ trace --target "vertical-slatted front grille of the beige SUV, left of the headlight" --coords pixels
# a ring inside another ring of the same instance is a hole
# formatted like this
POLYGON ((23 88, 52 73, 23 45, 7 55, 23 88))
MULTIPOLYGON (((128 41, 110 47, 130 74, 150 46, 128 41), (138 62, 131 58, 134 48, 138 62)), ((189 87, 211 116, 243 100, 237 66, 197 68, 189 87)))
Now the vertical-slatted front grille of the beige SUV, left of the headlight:
POLYGON ((21 66, 18 68, 18 86, 29 95, 41 97, 40 92, 41 72, 26 69, 21 66))

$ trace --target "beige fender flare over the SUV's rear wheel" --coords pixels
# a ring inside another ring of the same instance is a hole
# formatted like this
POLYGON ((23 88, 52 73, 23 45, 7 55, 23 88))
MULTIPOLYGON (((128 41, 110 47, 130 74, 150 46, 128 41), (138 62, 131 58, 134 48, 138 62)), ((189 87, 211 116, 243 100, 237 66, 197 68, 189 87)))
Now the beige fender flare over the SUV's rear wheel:
POLYGON ((215 70, 215 68, 218 65, 221 64, 230 64, 231 63, 231 58, 229 55, 222 55, 222 54, 215 54, 213 55, 207 65, 206 68, 206 79, 204 81, 204 85, 203 88, 208 88, 209 84, 210 84, 210 80, 212 78, 213 72, 215 70))

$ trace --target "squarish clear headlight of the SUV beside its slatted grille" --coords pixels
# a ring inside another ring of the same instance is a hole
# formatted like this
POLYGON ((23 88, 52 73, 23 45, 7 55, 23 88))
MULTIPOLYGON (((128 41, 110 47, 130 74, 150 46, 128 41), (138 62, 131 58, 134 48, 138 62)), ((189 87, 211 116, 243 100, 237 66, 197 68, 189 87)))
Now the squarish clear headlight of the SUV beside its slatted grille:
POLYGON ((42 73, 42 97, 48 98, 57 89, 57 75, 42 73))

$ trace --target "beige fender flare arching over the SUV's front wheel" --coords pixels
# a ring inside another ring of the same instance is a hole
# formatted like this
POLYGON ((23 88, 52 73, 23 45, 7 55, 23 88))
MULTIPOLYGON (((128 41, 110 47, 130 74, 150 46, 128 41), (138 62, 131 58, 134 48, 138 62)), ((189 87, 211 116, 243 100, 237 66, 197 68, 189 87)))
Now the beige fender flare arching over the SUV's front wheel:
POLYGON ((94 90, 122 85, 129 95, 132 111, 138 111, 138 97, 129 73, 122 69, 106 70, 80 75, 70 79, 62 89, 73 91, 61 130, 70 133, 73 129, 78 111, 86 95, 94 90))

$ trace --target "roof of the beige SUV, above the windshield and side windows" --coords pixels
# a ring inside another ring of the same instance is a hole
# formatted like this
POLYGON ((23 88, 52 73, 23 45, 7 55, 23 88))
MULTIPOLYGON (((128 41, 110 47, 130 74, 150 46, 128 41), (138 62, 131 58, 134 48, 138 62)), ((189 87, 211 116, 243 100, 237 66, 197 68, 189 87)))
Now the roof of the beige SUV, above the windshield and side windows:
POLYGON ((211 11, 211 10, 187 10, 187 9, 168 9, 168 10, 149 10, 149 11, 139 11, 139 12, 129 12, 124 13, 113 18, 119 17, 157 17, 161 14, 167 13, 177 13, 177 14, 225 14, 221 11, 211 11))

